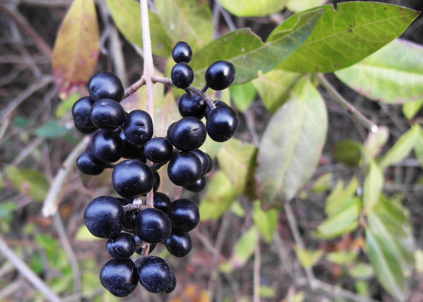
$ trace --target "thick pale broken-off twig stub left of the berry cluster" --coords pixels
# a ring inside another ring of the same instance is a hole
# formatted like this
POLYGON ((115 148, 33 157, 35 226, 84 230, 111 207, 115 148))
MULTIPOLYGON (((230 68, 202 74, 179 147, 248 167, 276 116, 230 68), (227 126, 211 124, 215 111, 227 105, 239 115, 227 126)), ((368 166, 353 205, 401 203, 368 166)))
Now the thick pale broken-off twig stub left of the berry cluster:
POLYGON ((59 195, 62 191, 63 183, 65 182, 67 176, 72 170, 72 167, 76 164, 77 157, 85 150, 87 147, 88 141, 90 140, 90 136, 85 136, 77 146, 69 153, 68 157, 66 157, 63 165, 60 167, 58 172, 56 173, 55 179, 52 185, 49 188, 49 192, 47 192, 46 199, 44 200, 42 214, 44 217, 48 217, 57 213, 57 209, 60 203, 59 195))

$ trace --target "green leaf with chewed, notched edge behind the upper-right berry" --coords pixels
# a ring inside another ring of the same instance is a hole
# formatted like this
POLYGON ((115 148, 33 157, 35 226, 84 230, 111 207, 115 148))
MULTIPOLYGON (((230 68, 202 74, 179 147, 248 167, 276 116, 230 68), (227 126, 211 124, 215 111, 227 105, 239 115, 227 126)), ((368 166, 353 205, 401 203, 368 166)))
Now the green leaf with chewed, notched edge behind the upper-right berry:
POLYGON ((291 27, 266 44, 248 28, 235 30, 212 41, 196 52, 190 61, 194 71, 192 85, 204 86, 204 74, 217 60, 230 61, 235 66, 234 84, 255 79, 259 70, 267 72, 286 60, 307 39, 320 15, 321 9, 299 14, 291 27))

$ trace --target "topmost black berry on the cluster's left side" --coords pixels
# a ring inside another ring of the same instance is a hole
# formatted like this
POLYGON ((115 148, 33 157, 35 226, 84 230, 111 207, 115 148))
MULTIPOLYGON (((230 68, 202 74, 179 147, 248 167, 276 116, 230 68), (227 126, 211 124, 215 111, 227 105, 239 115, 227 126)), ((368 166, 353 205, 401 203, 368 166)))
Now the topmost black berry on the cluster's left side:
POLYGON ((88 85, 88 91, 94 102, 101 99, 121 102, 124 98, 124 85, 118 76, 111 72, 94 74, 88 85))

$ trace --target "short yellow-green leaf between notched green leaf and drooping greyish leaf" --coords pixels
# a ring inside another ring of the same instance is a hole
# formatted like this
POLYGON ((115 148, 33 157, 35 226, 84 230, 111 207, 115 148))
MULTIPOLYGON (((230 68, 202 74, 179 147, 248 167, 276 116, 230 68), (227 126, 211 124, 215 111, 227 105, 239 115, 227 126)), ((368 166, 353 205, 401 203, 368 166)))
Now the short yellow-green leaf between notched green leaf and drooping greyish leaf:
POLYGON ((261 101, 270 113, 275 113, 291 97, 294 88, 302 74, 273 69, 266 74, 258 72, 258 79, 253 80, 255 89, 261 101))

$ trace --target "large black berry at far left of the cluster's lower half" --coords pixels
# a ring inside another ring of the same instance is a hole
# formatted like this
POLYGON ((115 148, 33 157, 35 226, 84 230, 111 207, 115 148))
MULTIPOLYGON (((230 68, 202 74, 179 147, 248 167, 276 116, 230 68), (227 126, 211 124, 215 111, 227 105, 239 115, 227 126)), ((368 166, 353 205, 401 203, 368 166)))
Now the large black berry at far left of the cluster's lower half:
POLYGON ((96 237, 116 236, 125 225, 125 211, 121 201, 107 195, 94 198, 85 208, 84 222, 88 231, 96 237))

